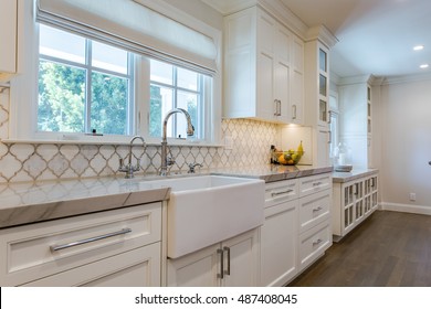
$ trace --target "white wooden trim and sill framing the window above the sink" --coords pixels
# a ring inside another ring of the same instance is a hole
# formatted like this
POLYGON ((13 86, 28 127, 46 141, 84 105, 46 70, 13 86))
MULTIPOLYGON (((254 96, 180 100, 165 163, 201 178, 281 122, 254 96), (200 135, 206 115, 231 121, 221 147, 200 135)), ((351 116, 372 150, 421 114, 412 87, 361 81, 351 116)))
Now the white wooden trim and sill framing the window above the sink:
MULTIPOLYGON (((10 82, 10 121, 9 121, 9 137, 3 139, 3 142, 24 142, 24 143, 74 143, 74 145, 127 145, 130 141, 130 136, 114 136, 114 135, 104 135, 104 136, 92 136, 85 134, 60 134, 56 137, 53 137, 50 134, 38 132, 36 121, 38 121, 38 77, 39 77, 39 23, 34 19, 34 3, 33 1, 22 1, 19 4, 19 42, 18 42, 18 60, 19 67, 18 71, 21 73, 10 82), (21 46, 21 47, 20 47, 21 46), (23 49, 22 46, 25 46, 23 49), (22 92, 20 89, 27 89, 22 92), (23 113, 25 110, 25 113, 23 113)), ((208 36, 212 38, 216 42, 218 50, 217 66, 218 70, 212 75, 212 88, 209 93, 211 102, 206 102, 206 115, 204 115, 204 130, 208 132, 204 139, 198 140, 170 140, 170 145, 201 145, 201 146, 221 146, 221 43, 222 35, 221 31, 214 29, 196 18, 181 12, 178 14, 179 10, 167 6, 158 6, 160 13, 166 13, 167 15, 178 15, 178 21, 182 22, 206 33, 208 36)), ((135 54, 136 55, 136 54, 135 54)), ((139 56, 140 57, 140 56, 139 56)), ((139 72, 140 67, 145 67, 143 62, 135 57, 135 78, 141 78, 140 84, 146 82, 146 77, 139 72), (139 67, 140 66, 140 67, 139 67), (137 77, 139 75, 139 77, 137 77)), ((148 78, 147 78, 148 79, 148 78)), ((148 84, 149 85, 149 84, 148 84)), ((149 99, 149 87, 138 89, 135 87, 133 94, 135 96, 135 115, 132 117, 135 121, 136 132, 135 135, 143 136, 147 143, 155 143, 156 146, 160 143, 159 138, 149 138, 145 125, 148 122, 146 109, 149 105, 145 104, 145 99, 149 99)), ((148 100, 147 100, 148 102, 148 100)))

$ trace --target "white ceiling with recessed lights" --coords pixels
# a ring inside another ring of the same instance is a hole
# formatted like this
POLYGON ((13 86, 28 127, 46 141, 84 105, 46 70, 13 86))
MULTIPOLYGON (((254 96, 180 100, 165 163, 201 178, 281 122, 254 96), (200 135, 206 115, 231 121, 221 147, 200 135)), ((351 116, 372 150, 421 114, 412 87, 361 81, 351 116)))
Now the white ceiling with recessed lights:
POLYGON ((340 77, 395 77, 431 72, 430 0, 281 0, 308 26, 337 39, 332 71, 340 77), (413 51, 417 44, 422 51, 413 51), (427 70, 419 65, 429 63, 427 70))

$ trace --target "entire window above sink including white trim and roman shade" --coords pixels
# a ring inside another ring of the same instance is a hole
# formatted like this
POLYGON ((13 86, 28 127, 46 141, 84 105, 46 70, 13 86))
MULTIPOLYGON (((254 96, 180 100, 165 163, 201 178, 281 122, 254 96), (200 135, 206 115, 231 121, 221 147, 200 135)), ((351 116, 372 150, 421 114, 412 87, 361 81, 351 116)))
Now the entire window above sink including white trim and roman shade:
POLYGON ((155 8, 148 9, 138 0, 114 2, 106 1, 106 7, 87 0, 22 2, 25 49, 20 51, 22 74, 11 81, 17 90, 10 98, 14 104, 9 139, 123 143, 141 135, 147 142, 159 143, 164 113, 185 107, 197 134, 183 141, 185 119, 176 114, 168 121, 168 136, 176 140, 169 142, 218 143, 221 32, 165 3, 151 2, 155 8), (113 6, 130 14, 114 14, 113 6), (88 23, 88 14, 97 15, 94 23, 88 23), (166 35, 166 29, 148 24, 137 29, 147 15, 179 35, 166 35), (183 38, 190 42, 183 44, 183 38), (170 67, 170 84, 151 79, 159 66, 170 67), (166 89, 171 97, 162 97, 166 89))

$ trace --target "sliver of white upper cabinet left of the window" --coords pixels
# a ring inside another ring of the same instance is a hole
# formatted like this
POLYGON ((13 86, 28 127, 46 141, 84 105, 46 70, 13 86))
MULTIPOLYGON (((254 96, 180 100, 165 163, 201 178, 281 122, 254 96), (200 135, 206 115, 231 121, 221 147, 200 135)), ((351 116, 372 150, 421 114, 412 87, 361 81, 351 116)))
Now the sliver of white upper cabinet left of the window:
POLYGON ((18 0, 0 1, 0 82, 17 73, 18 0))

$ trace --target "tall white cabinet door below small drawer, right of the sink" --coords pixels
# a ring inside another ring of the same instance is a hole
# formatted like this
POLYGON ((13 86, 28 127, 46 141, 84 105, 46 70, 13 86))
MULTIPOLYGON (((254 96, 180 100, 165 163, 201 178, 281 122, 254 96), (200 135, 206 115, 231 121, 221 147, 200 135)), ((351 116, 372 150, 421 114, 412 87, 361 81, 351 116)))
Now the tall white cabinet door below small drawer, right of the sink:
POLYGON ((265 209, 261 227, 260 286, 281 287, 296 273, 297 200, 265 209))

